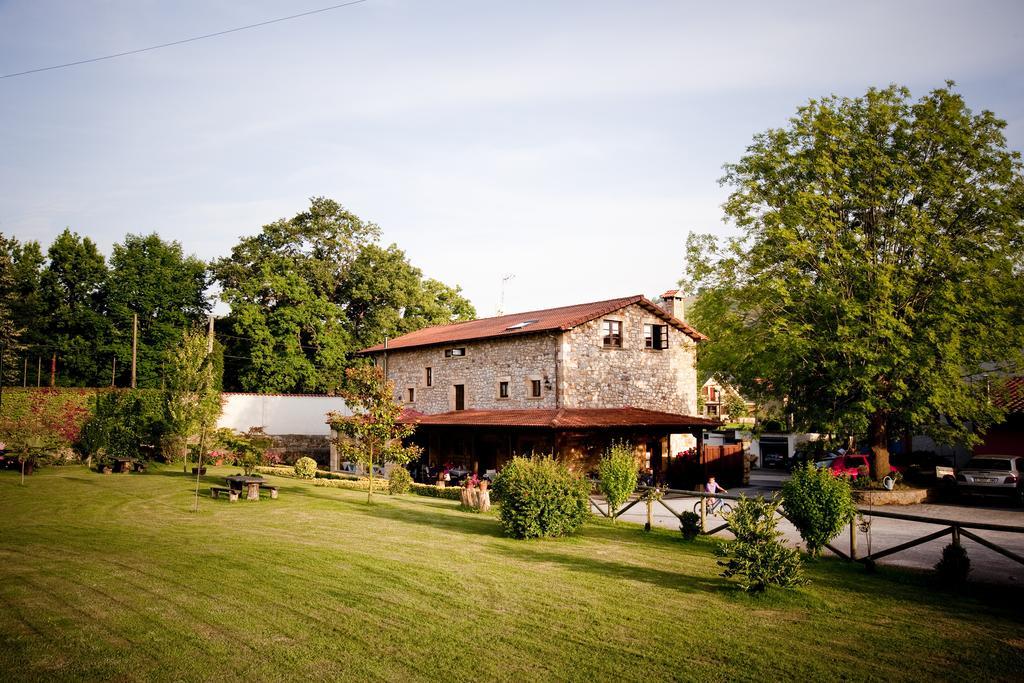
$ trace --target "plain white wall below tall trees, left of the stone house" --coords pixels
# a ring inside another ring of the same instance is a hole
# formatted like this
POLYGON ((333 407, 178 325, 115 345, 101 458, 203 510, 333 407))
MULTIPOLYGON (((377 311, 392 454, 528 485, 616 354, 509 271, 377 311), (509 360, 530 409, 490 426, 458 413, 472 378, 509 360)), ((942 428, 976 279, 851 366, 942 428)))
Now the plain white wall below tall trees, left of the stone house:
POLYGON ((267 434, 329 436, 328 413, 352 414, 340 396, 223 393, 221 400, 217 427, 238 431, 263 427, 267 434))

